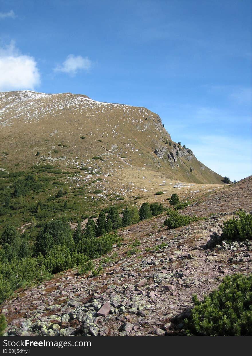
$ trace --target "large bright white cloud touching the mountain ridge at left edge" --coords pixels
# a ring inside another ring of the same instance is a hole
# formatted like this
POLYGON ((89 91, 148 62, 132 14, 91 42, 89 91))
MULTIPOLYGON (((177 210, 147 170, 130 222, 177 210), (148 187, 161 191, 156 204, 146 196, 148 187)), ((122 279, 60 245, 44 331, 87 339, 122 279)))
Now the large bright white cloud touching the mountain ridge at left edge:
POLYGON ((33 57, 23 55, 12 41, 0 48, 0 91, 34 90, 40 84, 40 73, 33 57))

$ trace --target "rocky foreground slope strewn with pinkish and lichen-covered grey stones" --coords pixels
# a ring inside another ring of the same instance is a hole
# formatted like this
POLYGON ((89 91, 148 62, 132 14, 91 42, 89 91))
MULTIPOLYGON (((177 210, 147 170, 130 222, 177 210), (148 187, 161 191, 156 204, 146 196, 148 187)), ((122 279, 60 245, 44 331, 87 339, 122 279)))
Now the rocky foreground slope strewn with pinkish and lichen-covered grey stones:
POLYGON ((184 335, 193 294, 252 272, 252 242, 218 238, 237 209, 251 212, 251 198, 249 177, 183 211, 205 220, 167 230, 161 215, 119 231, 121 246, 95 261, 101 275, 66 271, 2 304, 5 335, 184 335))

